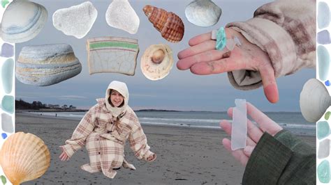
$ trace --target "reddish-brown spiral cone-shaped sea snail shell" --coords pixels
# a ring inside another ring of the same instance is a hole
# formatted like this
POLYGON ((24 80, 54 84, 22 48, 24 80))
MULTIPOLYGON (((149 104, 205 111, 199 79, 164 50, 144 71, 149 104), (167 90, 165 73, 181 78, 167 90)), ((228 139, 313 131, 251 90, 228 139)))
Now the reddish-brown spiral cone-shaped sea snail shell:
POLYGON ((154 28, 161 32, 163 38, 169 42, 179 42, 184 36, 184 24, 175 13, 168 13, 162 8, 147 5, 143 8, 145 15, 152 22, 154 28))

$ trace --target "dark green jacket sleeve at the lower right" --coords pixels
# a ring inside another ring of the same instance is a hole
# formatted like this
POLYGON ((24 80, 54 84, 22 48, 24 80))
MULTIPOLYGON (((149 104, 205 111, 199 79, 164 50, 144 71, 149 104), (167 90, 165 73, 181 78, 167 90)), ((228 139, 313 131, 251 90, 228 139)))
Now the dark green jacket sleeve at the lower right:
POLYGON ((242 184, 316 184, 316 152, 290 131, 265 132, 247 163, 242 184))

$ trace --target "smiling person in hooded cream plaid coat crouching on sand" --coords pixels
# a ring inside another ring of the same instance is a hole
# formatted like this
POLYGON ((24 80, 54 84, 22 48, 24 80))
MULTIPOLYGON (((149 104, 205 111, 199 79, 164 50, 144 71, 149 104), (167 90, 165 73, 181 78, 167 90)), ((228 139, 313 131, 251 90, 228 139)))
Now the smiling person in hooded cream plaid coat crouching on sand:
POLYGON ((135 167, 124 159, 124 145, 128 139, 131 149, 138 159, 154 161, 156 154, 149 150, 147 138, 142 131, 137 115, 128 106, 128 88, 120 81, 112 81, 105 98, 84 115, 73 136, 61 146, 61 161, 68 161, 73 154, 86 145, 89 163, 81 166, 87 172, 103 172, 106 177, 114 178, 121 166, 135 167))

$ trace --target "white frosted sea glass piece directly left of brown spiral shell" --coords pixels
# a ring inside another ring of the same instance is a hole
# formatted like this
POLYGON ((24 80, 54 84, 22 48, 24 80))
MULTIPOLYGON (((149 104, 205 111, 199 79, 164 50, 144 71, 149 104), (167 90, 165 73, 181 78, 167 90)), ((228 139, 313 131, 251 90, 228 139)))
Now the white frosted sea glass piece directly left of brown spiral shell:
POLYGON ((105 13, 105 20, 109 26, 131 34, 137 33, 140 24, 140 19, 128 0, 112 1, 105 13))

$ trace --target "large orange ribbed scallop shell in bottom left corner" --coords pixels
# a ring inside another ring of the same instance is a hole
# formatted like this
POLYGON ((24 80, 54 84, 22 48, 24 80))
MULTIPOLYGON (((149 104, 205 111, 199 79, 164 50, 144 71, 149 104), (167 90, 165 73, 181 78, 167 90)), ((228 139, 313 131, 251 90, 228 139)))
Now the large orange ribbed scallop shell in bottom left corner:
POLYGON ((41 138, 17 132, 3 143, 0 163, 10 182, 21 184, 46 172, 50 166, 50 151, 41 138))

